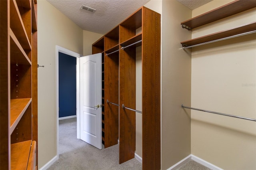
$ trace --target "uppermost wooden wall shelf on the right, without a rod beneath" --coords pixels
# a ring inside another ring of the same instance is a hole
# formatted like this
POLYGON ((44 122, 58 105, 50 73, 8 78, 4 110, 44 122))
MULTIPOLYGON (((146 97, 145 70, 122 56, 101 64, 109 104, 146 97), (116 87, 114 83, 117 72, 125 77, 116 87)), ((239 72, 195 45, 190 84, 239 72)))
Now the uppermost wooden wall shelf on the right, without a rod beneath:
POLYGON ((256 0, 236 0, 180 24, 190 30, 255 7, 256 0))

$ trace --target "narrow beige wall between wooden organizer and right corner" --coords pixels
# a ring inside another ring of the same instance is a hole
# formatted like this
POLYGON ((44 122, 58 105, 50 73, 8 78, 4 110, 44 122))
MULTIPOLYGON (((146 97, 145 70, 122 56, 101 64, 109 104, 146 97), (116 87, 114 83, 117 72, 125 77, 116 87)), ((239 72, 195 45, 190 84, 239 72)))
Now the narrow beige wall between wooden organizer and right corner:
POLYGON ((190 155, 191 53, 180 42, 191 38, 180 22, 191 10, 176 0, 162 1, 162 170, 190 155))

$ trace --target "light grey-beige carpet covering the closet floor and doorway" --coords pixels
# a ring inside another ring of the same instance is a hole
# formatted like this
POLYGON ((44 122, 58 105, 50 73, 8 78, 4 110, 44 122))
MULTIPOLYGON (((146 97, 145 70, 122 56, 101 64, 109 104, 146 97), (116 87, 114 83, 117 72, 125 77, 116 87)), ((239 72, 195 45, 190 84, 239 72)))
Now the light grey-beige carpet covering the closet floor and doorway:
MULTIPOLYGON (((59 121, 59 159, 48 170, 142 170, 135 158, 119 164, 118 144, 99 150, 76 138, 76 118, 59 121)), ((177 170, 210 170, 190 160, 177 170)))

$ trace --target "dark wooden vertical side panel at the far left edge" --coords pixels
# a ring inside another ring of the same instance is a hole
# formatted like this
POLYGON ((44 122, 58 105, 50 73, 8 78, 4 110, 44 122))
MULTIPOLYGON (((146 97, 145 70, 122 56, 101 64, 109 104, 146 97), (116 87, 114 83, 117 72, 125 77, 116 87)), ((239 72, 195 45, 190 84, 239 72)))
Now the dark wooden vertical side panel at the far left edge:
POLYGON ((0 0, 0 169, 10 169, 8 1, 0 0))

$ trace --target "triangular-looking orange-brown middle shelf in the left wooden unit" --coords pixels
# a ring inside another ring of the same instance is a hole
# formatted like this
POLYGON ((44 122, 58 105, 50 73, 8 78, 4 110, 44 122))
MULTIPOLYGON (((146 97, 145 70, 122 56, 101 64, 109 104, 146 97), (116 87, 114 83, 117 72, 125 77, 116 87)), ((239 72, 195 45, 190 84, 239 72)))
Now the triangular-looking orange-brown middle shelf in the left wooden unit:
POLYGON ((31 98, 10 100, 10 133, 12 133, 16 125, 18 125, 31 101, 31 98))

